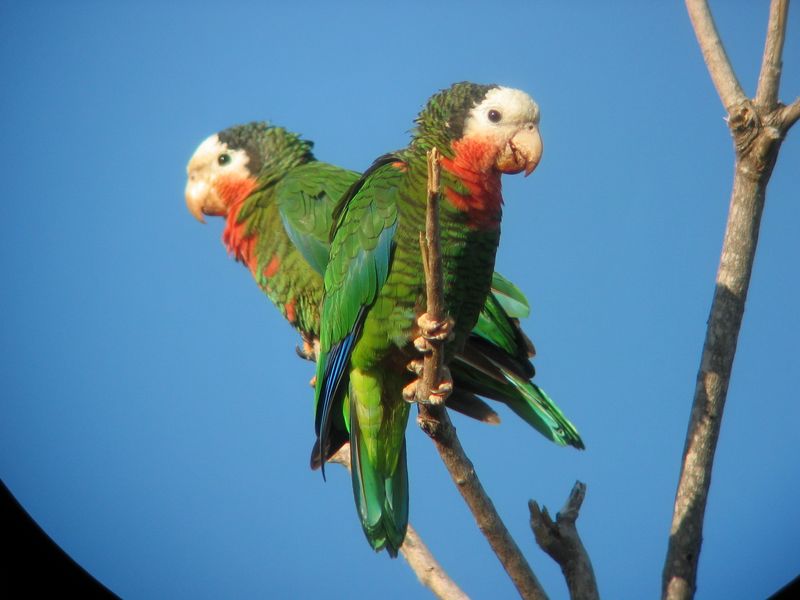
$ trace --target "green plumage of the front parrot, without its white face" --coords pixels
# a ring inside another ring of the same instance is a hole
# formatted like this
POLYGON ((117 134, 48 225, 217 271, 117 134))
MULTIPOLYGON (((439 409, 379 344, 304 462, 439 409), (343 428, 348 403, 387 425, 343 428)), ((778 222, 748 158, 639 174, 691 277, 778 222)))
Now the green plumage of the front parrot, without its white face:
MULTIPOLYGON (((336 415, 347 410, 361 523, 372 547, 392 555, 402 543, 408 518, 404 433, 409 405, 402 391, 413 380, 406 365, 418 356, 412 340, 416 317, 425 306, 418 240, 425 229, 426 151, 435 146, 445 157, 454 157, 452 143, 490 89, 457 84, 434 96, 418 118, 411 145, 376 161, 336 212, 339 220, 325 271, 316 427, 326 455, 330 439, 344 435, 337 431, 336 415)), ((479 200, 488 206, 488 214, 476 218, 454 202, 442 202, 443 296, 446 312, 455 320, 453 339, 445 344, 446 359, 460 352, 478 319, 500 238, 499 226, 493 226, 500 220, 500 174, 479 175, 486 181, 476 191, 454 170, 445 168, 441 174, 446 197, 448 191, 462 198, 484 193, 487 198, 479 200)), ((492 309, 501 310, 499 304, 492 309)))

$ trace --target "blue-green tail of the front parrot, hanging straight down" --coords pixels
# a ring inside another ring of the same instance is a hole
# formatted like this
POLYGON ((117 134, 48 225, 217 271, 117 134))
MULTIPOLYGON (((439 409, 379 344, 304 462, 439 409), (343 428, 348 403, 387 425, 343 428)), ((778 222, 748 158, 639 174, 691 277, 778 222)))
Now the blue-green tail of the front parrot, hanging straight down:
POLYGON ((350 461, 353 469, 353 496, 364 535, 376 552, 385 548, 394 558, 403 544, 408 526, 405 440, 394 468, 390 473, 381 473, 369 459, 361 439, 358 419, 354 418, 350 428, 350 461))

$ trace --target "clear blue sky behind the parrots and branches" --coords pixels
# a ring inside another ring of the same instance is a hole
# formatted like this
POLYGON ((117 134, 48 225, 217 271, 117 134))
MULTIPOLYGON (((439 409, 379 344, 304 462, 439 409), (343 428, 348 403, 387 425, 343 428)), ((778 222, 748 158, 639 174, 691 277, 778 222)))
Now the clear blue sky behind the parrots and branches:
MULTIPOLYGON (((714 2, 746 92, 768 2, 714 2)), ((781 99, 800 93, 793 6, 781 99)), ((313 367, 183 199, 197 144, 269 119, 352 169, 460 80, 539 102, 506 177, 497 268, 528 295, 537 381, 586 442, 455 416, 553 598, 527 500, 579 527, 606 598, 660 593, 728 210, 724 111, 681 2, 0 2, 0 474, 127 598, 424 598, 368 547, 344 470, 309 470, 313 367), (569 6, 567 5, 569 4, 569 6)), ((767 207, 714 469, 699 598, 800 570, 800 128, 767 207)), ((411 521, 467 593, 514 590, 433 445, 407 432, 411 521)))

